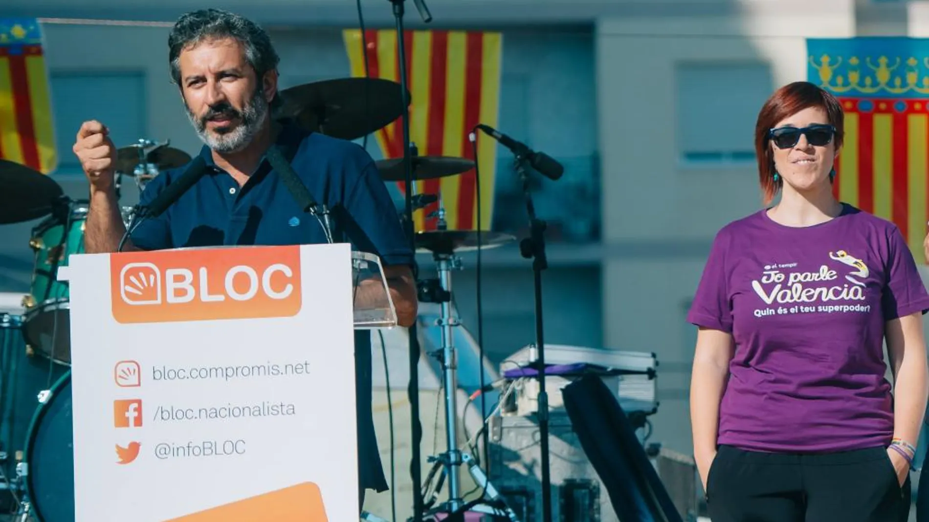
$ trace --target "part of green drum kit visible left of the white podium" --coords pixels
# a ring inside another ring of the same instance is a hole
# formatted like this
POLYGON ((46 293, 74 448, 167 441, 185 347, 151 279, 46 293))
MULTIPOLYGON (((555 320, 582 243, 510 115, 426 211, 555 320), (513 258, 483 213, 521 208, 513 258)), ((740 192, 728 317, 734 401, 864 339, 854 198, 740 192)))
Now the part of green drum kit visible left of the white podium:
MULTIPOLYGON (((190 161, 167 144, 140 140, 117 150, 141 190, 158 172, 190 161)), ((0 159, 0 224, 32 228, 33 276, 23 312, 0 312, 0 513, 18 521, 74 520, 71 321, 59 267, 85 252, 88 201, 71 199, 51 177, 0 159)), ((132 207, 121 208, 129 223, 132 207)), ((5 520, 0 515, 0 520, 5 520)))

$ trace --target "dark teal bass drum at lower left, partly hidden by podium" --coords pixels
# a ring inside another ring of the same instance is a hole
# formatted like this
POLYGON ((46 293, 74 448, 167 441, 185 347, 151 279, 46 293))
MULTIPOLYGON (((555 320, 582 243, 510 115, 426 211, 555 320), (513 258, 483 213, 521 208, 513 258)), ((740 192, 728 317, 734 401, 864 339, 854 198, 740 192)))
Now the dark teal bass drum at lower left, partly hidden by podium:
POLYGON ((36 522, 74 522, 71 372, 49 390, 26 439, 26 494, 36 522))

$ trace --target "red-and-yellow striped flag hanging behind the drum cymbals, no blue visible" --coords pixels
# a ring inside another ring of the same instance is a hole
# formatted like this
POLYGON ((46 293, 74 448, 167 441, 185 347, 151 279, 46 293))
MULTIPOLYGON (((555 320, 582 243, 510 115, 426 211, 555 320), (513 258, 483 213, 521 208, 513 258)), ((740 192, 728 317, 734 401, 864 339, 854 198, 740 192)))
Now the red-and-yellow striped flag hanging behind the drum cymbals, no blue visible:
MULTIPOLYGON (((399 82, 397 32, 358 30, 343 34, 351 74, 365 76, 365 54, 372 78, 399 82)), ((451 156, 474 159, 468 134, 478 123, 495 126, 500 99, 501 52, 499 32, 408 31, 404 33, 410 104, 410 140, 420 156, 451 156)), ((376 140, 385 158, 403 156, 402 121, 377 131, 376 140)), ((477 133, 480 194, 475 170, 436 180, 415 182, 415 192, 440 194, 451 230, 476 230, 478 197, 480 227, 491 228, 496 142, 477 133)), ((399 183, 401 191, 404 184, 399 183)), ((435 220, 425 215, 434 203, 415 212, 415 229, 434 230, 435 220)))

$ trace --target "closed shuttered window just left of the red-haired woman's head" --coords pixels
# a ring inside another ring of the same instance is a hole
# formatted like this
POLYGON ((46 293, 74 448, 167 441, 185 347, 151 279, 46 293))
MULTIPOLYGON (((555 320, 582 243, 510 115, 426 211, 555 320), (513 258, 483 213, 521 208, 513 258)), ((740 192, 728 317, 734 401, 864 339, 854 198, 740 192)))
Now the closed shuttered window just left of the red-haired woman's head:
POLYGON ((753 162, 755 119, 772 85, 763 63, 679 64, 680 158, 688 164, 753 162))

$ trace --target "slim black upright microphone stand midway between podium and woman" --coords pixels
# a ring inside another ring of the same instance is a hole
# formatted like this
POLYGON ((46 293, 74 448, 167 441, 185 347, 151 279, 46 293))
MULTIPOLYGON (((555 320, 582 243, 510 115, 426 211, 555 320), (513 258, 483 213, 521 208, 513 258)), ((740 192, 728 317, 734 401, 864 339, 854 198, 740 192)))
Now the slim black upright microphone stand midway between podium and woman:
POLYGON ((539 371, 539 438, 542 452, 542 520, 552 522, 552 477, 548 454, 548 392, 545 388, 545 346, 543 342, 542 323, 542 272, 548 268, 548 259, 545 256, 545 228, 547 223, 535 215, 535 204, 530 194, 529 175, 526 172, 527 150, 514 153, 515 167, 519 180, 522 182, 523 193, 526 195, 526 212, 529 214, 530 236, 519 242, 519 253, 525 259, 532 260, 533 287, 535 289, 535 347, 538 351, 534 363, 539 371))

